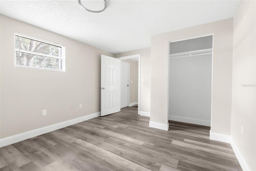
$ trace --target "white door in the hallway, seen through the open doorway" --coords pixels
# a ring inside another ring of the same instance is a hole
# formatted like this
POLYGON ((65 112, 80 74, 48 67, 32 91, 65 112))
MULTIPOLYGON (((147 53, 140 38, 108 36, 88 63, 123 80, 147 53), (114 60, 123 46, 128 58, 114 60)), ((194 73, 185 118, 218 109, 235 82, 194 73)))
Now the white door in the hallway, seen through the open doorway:
POLYGON ((129 68, 130 64, 121 61, 121 108, 128 106, 129 93, 129 68))

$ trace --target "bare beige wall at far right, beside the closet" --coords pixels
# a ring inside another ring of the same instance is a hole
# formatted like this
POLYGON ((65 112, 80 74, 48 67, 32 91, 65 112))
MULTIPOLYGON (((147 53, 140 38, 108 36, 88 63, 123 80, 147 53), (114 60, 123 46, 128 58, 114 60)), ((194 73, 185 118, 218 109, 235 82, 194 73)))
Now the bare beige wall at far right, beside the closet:
POLYGON ((234 16, 231 117, 232 140, 251 171, 256 170, 255 11, 256 1, 242 1, 234 16))

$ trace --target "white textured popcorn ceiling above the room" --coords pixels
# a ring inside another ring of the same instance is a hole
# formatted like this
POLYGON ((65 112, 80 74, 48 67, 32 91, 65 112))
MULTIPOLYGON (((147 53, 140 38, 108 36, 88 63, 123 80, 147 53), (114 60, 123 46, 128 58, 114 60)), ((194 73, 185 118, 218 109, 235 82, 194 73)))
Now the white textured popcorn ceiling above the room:
POLYGON ((120 53, 150 47, 152 35, 232 18, 240 0, 106 2, 104 12, 91 13, 77 0, 0 1, 0 13, 120 53))

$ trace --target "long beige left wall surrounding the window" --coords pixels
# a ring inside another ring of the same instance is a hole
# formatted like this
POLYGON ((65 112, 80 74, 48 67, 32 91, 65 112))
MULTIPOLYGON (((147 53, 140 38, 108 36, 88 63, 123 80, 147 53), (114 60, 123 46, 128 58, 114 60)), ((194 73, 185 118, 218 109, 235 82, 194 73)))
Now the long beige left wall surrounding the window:
POLYGON ((0 138, 100 112, 100 55, 114 54, 0 17, 0 138), (15 32, 65 45, 66 72, 15 68, 15 32))

